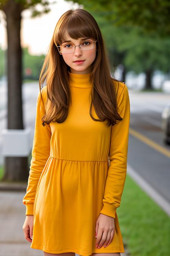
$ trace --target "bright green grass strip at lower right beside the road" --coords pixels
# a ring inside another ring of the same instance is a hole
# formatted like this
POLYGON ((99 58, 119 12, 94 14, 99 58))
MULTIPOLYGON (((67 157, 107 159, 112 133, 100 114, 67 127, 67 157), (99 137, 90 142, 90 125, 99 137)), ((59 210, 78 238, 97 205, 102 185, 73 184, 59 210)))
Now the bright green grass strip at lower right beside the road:
POLYGON ((170 255, 169 216, 128 174, 117 214, 131 256, 170 255))

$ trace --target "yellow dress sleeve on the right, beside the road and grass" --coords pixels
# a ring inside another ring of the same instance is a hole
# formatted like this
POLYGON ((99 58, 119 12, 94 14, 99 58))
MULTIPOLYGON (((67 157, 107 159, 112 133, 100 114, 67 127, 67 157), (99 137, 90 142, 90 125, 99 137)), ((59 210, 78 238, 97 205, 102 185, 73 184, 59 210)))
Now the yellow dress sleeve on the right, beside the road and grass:
MULTIPOLYGON (((130 124, 130 100, 127 86, 124 84, 117 96, 117 111, 122 121, 111 128, 111 141, 107 179, 101 214, 115 218, 116 209, 120 206, 127 172, 128 135, 130 124)), ((117 121, 118 122, 118 121, 117 121)))

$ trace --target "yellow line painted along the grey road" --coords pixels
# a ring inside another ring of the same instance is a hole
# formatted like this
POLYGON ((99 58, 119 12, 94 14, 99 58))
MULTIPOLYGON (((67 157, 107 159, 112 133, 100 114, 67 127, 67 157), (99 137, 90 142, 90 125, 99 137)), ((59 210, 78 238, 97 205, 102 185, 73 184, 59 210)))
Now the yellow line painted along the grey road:
POLYGON ((151 148, 154 148, 155 150, 159 151, 163 155, 166 155, 167 157, 170 158, 170 150, 164 148, 163 146, 159 145, 153 140, 150 140, 146 136, 142 135, 141 133, 137 132, 136 130, 132 129, 129 127, 129 133, 133 135, 134 137, 138 138, 138 140, 141 140, 151 148))

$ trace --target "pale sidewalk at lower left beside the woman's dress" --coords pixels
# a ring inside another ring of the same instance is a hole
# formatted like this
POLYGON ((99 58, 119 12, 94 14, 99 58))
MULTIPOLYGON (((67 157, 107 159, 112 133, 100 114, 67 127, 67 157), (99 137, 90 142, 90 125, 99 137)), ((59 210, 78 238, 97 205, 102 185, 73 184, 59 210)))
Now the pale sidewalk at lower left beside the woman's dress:
MULTIPOLYGON (((22 199, 26 191, 24 185, 20 185, 21 191, 15 191, 17 185, 13 191, 12 188, 11 191, 7 191, 8 187, 0 184, 0 256, 43 256, 42 250, 30 248, 31 243, 23 234, 25 205, 22 199)), ((121 253, 121 256, 127 254, 121 253)))

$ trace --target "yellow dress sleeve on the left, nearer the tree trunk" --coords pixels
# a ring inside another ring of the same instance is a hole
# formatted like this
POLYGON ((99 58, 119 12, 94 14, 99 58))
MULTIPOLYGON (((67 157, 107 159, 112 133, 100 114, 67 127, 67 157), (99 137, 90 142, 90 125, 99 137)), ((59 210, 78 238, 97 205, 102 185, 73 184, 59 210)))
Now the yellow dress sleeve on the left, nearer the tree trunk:
MULTIPOLYGON (((46 100, 45 87, 43 87, 41 90, 44 104, 46 100)), ((41 120, 42 116, 45 115, 45 108, 43 102, 39 91, 39 94, 37 96, 36 121, 32 146, 32 159, 28 177, 28 186, 26 188, 26 194, 23 198, 23 204, 25 204, 26 206, 25 215, 34 215, 33 206, 37 185, 45 163, 50 154, 51 129, 49 124, 43 126, 41 120)))

